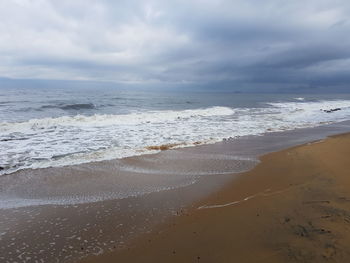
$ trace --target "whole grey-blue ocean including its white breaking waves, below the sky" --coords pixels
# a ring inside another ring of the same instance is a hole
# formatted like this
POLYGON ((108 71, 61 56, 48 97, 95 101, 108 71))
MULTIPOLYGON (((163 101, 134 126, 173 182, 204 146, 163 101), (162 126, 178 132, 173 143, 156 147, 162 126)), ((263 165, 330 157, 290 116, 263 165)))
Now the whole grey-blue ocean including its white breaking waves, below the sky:
POLYGON ((350 120, 350 94, 0 88, 0 174, 350 120))

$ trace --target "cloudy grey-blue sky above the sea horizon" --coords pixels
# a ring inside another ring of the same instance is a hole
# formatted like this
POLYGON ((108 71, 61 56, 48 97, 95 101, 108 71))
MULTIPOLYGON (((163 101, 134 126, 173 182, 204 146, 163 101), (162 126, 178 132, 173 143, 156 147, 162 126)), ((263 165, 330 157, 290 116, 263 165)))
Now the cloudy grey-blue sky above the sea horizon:
POLYGON ((0 0, 0 78, 348 89, 349 33, 348 0, 0 0))

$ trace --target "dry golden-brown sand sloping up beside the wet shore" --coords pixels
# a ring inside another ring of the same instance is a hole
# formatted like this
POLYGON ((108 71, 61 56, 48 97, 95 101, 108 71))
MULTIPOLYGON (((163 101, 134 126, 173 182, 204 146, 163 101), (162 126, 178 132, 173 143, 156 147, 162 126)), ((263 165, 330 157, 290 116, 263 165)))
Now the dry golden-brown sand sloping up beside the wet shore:
POLYGON ((125 249, 84 262, 350 262, 350 134, 260 159, 125 249))

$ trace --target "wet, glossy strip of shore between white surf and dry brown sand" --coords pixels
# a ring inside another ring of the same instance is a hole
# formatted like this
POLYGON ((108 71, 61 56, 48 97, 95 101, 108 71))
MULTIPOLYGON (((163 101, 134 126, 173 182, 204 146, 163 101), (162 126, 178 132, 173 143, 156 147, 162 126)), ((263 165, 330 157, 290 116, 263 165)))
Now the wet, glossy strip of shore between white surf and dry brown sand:
MULTIPOLYGON (((8 190, 9 200, 15 196, 26 198, 25 201, 35 201, 36 197, 48 202, 55 199, 63 201, 60 204, 2 209, 0 260, 21 262, 24 258, 31 258, 39 262, 79 262, 84 258, 90 260, 92 255, 104 257, 110 252, 116 253, 135 245, 144 236, 177 225, 180 215, 189 217, 199 206, 223 206, 199 210, 204 214, 209 211, 216 213, 221 209, 252 202, 256 196, 260 198, 269 194, 264 192, 268 190, 266 187, 263 190, 242 192, 240 196, 234 196, 235 199, 198 203, 221 193, 231 182, 237 179, 239 182, 239 174, 249 171, 253 167, 251 165, 255 166, 259 156, 349 130, 350 122, 342 122, 161 151, 122 161, 40 169, 29 174, 0 177, 3 203, 6 202, 8 190), (120 170, 125 167, 132 169, 120 170), (224 173, 220 174, 220 171, 224 173), (192 174, 198 176, 193 178, 192 174), (195 183, 187 186, 153 191, 155 187, 179 185, 193 179, 195 183), (122 199, 108 196, 111 191, 118 193, 119 190, 145 188, 151 190, 150 193, 122 199), (97 197, 99 193, 106 194, 102 197, 107 198, 90 202, 90 197, 94 197, 95 193, 97 197), (77 203, 80 200, 86 202, 77 203)), ((114 262, 113 259, 111 261, 114 262)), ((142 262, 140 258, 134 261, 142 262)))

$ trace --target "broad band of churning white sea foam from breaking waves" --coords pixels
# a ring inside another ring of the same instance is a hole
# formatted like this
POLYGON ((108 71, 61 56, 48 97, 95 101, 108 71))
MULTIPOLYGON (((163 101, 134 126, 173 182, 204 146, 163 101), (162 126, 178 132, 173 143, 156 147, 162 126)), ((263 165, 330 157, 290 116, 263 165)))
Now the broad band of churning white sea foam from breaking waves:
POLYGON ((280 102, 256 108, 211 107, 124 115, 64 116, 0 123, 0 173, 156 152, 148 146, 315 127, 350 119, 350 100, 280 102), (332 109, 340 109, 326 112, 332 109))

